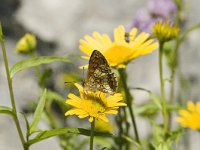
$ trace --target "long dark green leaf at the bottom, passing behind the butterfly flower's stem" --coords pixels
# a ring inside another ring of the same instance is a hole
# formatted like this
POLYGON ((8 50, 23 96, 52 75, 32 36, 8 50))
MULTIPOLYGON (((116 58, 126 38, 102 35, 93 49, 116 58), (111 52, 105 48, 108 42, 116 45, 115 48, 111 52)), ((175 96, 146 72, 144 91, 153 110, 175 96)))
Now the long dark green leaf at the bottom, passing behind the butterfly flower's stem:
MULTIPOLYGON (((73 134, 81 134, 90 136, 90 130, 82 129, 82 128, 60 128, 60 129, 53 129, 53 130, 46 130, 40 132, 35 138, 29 140, 27 142, 28 145, 32 145, 34 143, 40 142, 42 140, 45 140, 47 138, 66 134, 66 133, 73 133, 73 134)), ((95 136, 104 136, 104 137, 112 137, 112 134, 110 133, 101 133, 101 132, 95 132, 95 136)))

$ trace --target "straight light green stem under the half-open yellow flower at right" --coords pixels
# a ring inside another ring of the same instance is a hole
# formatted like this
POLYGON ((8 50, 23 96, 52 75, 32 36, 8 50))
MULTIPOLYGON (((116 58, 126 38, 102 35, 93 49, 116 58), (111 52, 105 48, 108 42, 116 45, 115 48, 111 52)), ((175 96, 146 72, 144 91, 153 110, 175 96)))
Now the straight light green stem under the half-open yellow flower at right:
POLYGON ((162 103, 162 115, 163 115, 163 122, 164 122, 164 129, 167 131, 168 129, 168 120, 167 120, 167 106, 166 106, 166 98, 165 98, 165 85, 164 85, 164 79, 163 79, 163 42, 159 43, 160 49, 159 49, 159 73, 160 73, 160 89, 161 89, 161 103, 162 103))

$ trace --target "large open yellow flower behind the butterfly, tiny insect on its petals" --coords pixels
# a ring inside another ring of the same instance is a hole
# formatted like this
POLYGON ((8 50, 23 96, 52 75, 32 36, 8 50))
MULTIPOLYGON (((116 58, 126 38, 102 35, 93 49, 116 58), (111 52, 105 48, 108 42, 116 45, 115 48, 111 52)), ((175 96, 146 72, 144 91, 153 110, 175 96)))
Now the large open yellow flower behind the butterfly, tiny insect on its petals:
POLYGON ((107 34, 101 35, 94 32, 92 37, 86 35, 84 39, 80 40, 80 50, 87 55, 83 58, 89 59, 93 50, 97 49, 105 56, 110 66, 125 68, 131 60, 158 48, 158 43, 154 42, 148 33, 142 32, 137 36, 136 34, 137 29, 133 28, 128 33, 127 40, 125 37, 127 33, 121 25, 114 29, 114 41, 112 42, 107 34))

